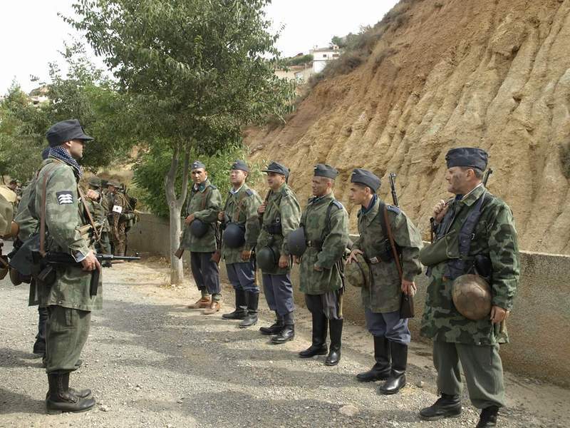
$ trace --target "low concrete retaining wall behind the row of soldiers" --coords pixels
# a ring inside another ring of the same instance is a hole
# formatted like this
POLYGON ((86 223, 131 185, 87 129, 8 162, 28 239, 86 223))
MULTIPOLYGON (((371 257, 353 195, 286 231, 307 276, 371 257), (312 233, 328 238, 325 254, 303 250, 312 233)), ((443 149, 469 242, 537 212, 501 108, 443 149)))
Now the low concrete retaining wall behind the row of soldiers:
MULTIPOLYGON (((154 215, 140 215, 140 223, 129 234, 133 250, 169 257, 168 222, 154 215)), ((522 275, 514 310, 507 327, 511 343, 501 349, 504 366, 519 374, 547 379, 570 386, 570 256, 542 253, 521 253, 522 275)), ((222 272, 225 270, 222 268, 222 272)), ((225 272, 224 272, 225 273, 225 272)), ((293 272, 298 285, 299 272, 293 272)), ((413 340, 418 335, 425 302, 427 277, 417 279, 416 317, 410 320, 413 340)), ((301 292, 296 302, 304 305, 301 292)), ((360 290, 348 286, 344 299, 347 319, 364 324, 360 290)))

